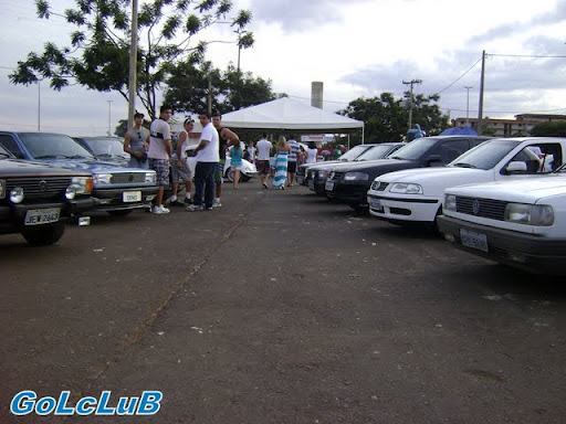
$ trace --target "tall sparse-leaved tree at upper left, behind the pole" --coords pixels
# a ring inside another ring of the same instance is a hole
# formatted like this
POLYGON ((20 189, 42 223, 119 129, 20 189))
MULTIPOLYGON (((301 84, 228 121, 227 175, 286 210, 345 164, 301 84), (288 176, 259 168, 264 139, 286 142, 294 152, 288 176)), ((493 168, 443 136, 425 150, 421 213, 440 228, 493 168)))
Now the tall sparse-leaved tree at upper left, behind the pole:
MULTIPOLYGON (((9 78, 13 84, 32 84, 49 78, 51 87, 61 91, 78 84, 98 92, 118 92, 128 99, 130 1, 75 0, 76 8, 62 17, 77 30, 71 45, 57 47, 45 43, 42 54, 29 53, 18 62, 9 78)), ((49 19, 54 13, 48 0, 35 0, 38 15, 49 19)), ((231 0, 151 0, 138 14, 138 87, 137 94, 150 117, 156 116, 156 94, 170 75, 177 61, 197 64, 203 61, 209 42, 193 45, 202 30, 226 20, 232 10, 231 0)), ((253 34, 243 29, 251 12, 241 10, 231 19, 239 34, 238 45, 253 45, 253 34)))

